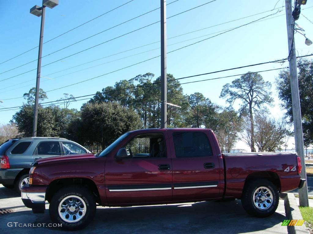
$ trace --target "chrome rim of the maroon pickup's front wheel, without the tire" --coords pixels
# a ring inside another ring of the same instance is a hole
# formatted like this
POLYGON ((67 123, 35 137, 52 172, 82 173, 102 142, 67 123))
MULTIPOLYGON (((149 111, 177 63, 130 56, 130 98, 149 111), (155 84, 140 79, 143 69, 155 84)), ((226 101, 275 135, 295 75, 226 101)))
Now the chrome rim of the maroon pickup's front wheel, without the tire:
POLYGON ((61 200, 58 211, 64 222, 78 222, 86 214, 86 203, 81 197, 70 195, 61 200))

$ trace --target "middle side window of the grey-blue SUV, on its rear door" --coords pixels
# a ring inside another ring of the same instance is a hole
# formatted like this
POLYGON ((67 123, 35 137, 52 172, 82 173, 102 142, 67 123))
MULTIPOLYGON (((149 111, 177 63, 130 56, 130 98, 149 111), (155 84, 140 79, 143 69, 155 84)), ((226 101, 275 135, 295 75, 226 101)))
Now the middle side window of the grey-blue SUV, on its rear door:
POLYGON ((42 141, 40 142, 33 155, 34 158, 49 158, 61 155, 61 143, 59 141, 42 141))

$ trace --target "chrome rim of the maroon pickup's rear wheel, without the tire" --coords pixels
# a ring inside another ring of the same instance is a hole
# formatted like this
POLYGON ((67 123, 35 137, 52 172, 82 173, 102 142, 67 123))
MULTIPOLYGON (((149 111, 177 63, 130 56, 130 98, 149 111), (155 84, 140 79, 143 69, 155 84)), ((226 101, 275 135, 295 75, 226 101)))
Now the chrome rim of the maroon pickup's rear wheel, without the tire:
POLYGON ((259 210, 267 210, 273 204, 273 193, 267 187, 254 190, 253 203, 259 210))

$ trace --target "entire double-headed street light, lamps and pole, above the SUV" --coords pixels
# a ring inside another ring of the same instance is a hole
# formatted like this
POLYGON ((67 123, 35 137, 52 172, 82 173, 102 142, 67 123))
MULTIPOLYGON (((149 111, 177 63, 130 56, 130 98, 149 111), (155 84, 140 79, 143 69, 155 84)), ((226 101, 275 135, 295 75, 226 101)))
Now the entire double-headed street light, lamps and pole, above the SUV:
POLYGON ((44 16, 45 7, 53 8, 59 5, 59 0, 43 0, 42 7, 34 6, 30 9, 30 13, 35 16, 41 16, 39 49, 38 49, 38 63, 37 63, 37 78, 36 78, 36 94, 34 106, 34 119, 33 119, 33 137, 37 136, 37 119, 38 119, 38 100, 39 100, 39 85, 40 85, 40 70, 41 70, 41 55, 42 45, 44 39, 44 16))

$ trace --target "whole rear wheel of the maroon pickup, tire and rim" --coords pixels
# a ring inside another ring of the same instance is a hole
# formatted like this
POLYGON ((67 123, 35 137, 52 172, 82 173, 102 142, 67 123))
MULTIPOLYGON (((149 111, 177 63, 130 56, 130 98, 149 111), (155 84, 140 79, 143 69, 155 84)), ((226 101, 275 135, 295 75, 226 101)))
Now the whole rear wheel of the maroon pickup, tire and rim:
POLYGON ((246 212, 256 217, 268 217, 275 213, 278 202, 278 188, 266 179, 249 183, 241 198, 246 212))

